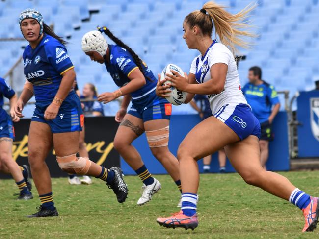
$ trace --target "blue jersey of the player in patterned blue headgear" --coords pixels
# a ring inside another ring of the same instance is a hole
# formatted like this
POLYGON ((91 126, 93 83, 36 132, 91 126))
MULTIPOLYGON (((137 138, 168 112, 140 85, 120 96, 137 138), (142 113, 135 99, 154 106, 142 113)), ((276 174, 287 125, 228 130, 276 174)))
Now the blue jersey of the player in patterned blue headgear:
POLYGON ((74 68, 65 46, 47 34, 36 48, 27 45, 23 60, 25 77, 33 85, 36 101, 52 101, 62 74, 74 68))

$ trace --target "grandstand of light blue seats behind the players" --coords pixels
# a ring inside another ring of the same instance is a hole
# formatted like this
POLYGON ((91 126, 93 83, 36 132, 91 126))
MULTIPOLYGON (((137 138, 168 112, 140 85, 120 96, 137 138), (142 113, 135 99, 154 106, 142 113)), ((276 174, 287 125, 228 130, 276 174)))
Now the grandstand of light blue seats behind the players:
MULTIPOLYGON (((198 54, 189 50, 182 39, 184 17, 200 9, 202 0, 2 0, 0 1, 0 76, 15 64, 26 41, 18 25, 19 13, 28 7, 38 9, 47 24, 67 39, 67 48, 75 65, 79 87, 92 82, 98 92, 113 91, 116 86, 104 65, 91 62, 81 51, 83 34, 97 25, 106 25, 117 37, 131 46, 156 74, 164 65, 174 63, 188 72, 198 54), (16 39, 12 41, 10 39, 16 39)), ((252 0, 215 0, 236 13, 252 0)), ((263 78, 277 90, 296 91, 313 88, 313 75, 319 73, 319 4, 318 0, 257 0, 249 20, 259 36, 254 47, 241 50, 247 55, 239 63, 242 85, 252 65, 263 68, 263 78)), ((109 40, 111 43, 111 41, 109 40)), ((20 71, 21 72, 21 71, 20 71)), ((20 73, 19 72, 19 73, 20 73)), ((19 91, 19 84, 12 84, 19 91)), ((19 78, 19 77, 18 77, 19 78)), ((22 79, 22 80, 21 80, 22 79)), ((17 82, 17 81, 16 81, 17 82)), ((283 98, 282 98, 283 99, 283 98)), ((284 102, 282 102, 282 109, 284 102)), ((114 115, 117 103, 106 105, 106 115, 114 115)), ((30 106, 32 107, 32 106, 30 106)), ((188 105, 175 107, 175 114, 194 111, 188 105)))

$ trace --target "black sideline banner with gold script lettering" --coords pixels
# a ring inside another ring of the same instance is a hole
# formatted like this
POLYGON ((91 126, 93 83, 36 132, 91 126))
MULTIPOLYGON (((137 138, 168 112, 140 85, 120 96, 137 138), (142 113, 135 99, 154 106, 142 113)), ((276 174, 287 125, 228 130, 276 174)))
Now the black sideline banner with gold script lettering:
MULTIPOLYGON (((14 123, 15 139, 13 145, 13 158, 19 165, 27 162, 27 140, 30 119, 21 119, 14 123)), ((90 159, 104 167, 119 167, 120 156, 113 148, 113 139, 118 127, 114 117, 85 118, 85 140, 90 159)), ((66 177, 56 162, 54 151, 50 151, 46 159, 52 177, 66 177)), ((0 173, 0 178, 11 178, 11 175, 0 173)))

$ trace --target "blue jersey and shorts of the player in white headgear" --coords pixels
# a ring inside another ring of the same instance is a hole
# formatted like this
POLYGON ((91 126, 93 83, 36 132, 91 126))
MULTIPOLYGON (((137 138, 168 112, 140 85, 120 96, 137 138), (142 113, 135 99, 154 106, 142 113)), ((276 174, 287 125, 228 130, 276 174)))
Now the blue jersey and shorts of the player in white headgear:
MULTIPOLYGON (((133 56, 125 48, 108 45, 110 62, 105 62, 106 69, 118 87, 130 82, 130 74, 138 69, 133 56)), ((164 98, 156 96, 157 79, 153 72, 143 62, 143 75, 146 84, 131 93, 132 107, 128 114, 143 119, 144 122, 155 119, 170 119, 172 105, 164 98)))

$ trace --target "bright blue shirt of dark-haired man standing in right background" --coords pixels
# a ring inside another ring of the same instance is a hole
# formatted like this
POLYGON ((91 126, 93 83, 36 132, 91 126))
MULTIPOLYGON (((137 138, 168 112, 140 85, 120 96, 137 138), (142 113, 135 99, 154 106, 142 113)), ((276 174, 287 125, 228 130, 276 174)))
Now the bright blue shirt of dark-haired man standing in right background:
POLYGON ((278 94, 274 86, 265 81, 261 85, 247 83, 242 92, 260 123, 268 120, 271 114, 271 107, 279 103, 278 94))

